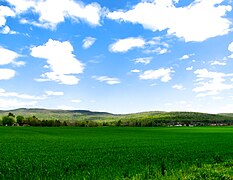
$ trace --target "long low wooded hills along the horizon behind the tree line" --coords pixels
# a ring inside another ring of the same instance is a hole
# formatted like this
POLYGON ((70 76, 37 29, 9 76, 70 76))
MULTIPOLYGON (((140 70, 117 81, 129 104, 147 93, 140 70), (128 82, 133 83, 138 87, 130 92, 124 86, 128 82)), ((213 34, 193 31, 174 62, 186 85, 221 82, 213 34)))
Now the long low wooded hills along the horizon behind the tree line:
POLYGON ((113 122, 120 121, 122 124, 135 124, 140 122, 147 124, 175 124, 175 123, 224 123, 233 124, 233 114, 207 114, 199 112, 163 112, 149 111, 132 114, 111 114, 108 112, 93 112, 88 110, 55 110, 55 109, 14 109, 0 111, 0 117, 6 116, 9 112, 24 117, 36 116, 40 120, 60 121, 99 121, 113 122))

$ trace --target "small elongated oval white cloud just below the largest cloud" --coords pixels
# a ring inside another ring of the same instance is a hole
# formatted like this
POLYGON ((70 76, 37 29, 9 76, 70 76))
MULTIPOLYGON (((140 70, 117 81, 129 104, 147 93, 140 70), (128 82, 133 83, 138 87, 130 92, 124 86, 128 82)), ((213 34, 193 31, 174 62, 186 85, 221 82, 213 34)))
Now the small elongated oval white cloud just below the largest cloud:
POLYGON ((114 53, 125 53, 133 48, 143 48, 146 44, 145 40, 140 37, 129 37, 126 39, 119 39, 109 46, 109 50, 114 53))

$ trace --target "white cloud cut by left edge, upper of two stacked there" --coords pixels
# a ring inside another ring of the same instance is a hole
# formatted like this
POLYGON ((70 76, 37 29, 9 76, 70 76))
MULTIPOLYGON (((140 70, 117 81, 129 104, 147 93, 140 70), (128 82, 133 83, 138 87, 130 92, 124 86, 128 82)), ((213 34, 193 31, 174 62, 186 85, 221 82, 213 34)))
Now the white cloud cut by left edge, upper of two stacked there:
POLYGON ((0 46, 0 65, 13 63, 18 57, 19 54, 17 54, 16 52, 0 46))

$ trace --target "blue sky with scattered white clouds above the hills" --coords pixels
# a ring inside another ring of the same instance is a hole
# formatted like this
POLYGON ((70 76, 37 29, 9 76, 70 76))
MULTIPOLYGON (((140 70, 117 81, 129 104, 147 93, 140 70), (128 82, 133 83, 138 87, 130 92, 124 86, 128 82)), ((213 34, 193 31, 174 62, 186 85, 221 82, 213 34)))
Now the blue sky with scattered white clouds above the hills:
POLYGON ((231 0, 0 0, 0 109, 233 112, 231 0))

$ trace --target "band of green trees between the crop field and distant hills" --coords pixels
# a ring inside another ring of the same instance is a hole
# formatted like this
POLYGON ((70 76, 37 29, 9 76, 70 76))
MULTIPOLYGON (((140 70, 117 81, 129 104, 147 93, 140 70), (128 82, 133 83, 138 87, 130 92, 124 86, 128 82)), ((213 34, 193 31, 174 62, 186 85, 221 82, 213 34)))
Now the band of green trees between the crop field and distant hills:
POLYGON ((7 116, 0 119, 1 126, 40 126, 40 127, 60 127, 60 126, 78 126, 78 127, 97 127, 97 126, 132 126, 132 127, 161 127, 161 126, 232 126, 232 118, 224 119, 190 119, 188 117, 134 117, 122 118, 111 121, 95 120, 77 120, 77 121, 60 121, 60 120, 40 120, 36 116, 24 117, 15 116, 9 112, 7 116))

